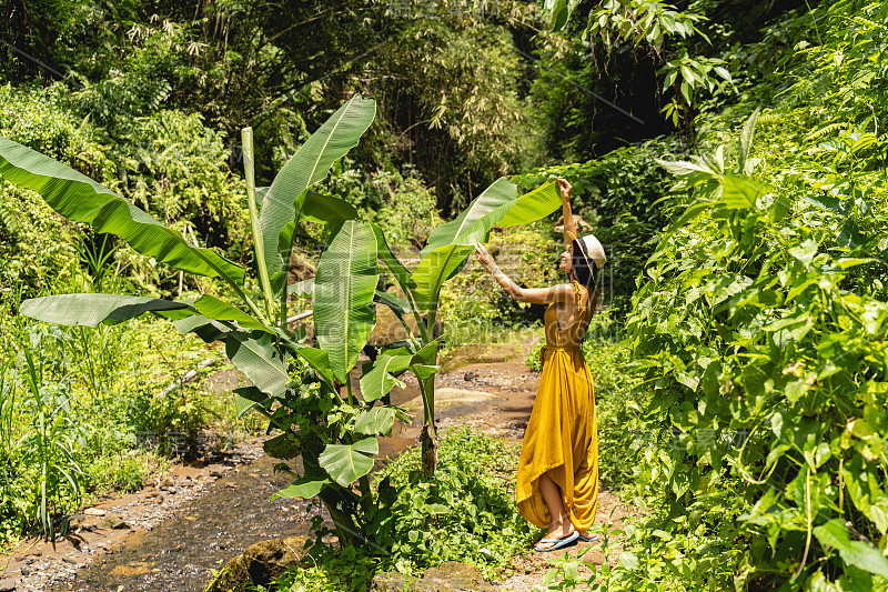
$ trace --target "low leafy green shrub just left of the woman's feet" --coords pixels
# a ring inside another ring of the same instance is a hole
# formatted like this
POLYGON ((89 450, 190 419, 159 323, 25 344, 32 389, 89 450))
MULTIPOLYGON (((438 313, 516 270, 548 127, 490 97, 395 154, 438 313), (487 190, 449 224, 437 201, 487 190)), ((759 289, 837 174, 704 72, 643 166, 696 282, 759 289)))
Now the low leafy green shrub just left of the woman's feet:
POLYGON ((517 459, 517 446, 468 429, 442 439, 431 480, 418 449, 398 455, 376 480, 386 506, 373 522, 384 562, 403 572, 463 561, 490 576, 526 549, 536 529, 515 505, 517 459))

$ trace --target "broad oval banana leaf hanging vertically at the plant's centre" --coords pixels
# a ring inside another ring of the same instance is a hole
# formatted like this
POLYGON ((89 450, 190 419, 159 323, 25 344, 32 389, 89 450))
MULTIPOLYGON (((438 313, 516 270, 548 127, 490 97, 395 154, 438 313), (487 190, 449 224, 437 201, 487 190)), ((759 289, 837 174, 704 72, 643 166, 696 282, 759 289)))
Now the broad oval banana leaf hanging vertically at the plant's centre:
POLYGON ((376 235, 349 220, 333 238, 314 278, 314 328, 339 382, 345 382, 376 324, 373 295, 379 278, 376 235))

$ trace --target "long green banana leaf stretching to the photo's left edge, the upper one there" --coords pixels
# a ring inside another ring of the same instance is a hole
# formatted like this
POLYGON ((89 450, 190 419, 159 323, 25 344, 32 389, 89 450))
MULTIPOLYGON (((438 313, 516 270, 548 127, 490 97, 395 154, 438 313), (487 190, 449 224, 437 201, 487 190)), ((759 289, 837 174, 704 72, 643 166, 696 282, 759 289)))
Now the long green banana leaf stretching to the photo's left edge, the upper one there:
POLYGON ((115 234, 144 255, 188 273, 224 277, 243 284, 242 267, 212 249, 192 247, 180 232, 164 227, 107 187, 6 138, 0 138, 0 175, 37 191, 69 220, 115 234))

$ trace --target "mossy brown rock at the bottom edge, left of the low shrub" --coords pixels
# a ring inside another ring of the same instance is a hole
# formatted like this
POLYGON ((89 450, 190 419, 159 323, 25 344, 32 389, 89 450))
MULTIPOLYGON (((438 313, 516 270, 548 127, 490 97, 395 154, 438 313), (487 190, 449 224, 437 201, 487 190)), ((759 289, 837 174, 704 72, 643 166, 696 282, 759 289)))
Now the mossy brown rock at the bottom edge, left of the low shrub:
POLYGON ((229 561, 204 592, 242 592, 249 585, 268 585, 304 555, 306 536, 262 541, 229 561))

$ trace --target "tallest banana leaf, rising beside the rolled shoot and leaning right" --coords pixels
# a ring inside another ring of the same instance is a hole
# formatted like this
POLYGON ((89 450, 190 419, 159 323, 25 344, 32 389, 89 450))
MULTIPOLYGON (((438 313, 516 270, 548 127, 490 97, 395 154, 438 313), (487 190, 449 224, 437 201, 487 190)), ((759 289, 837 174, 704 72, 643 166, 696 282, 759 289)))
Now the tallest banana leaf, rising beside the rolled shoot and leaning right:
POLYGON ((278 240, 302 205, 297 201, 305 199, 309 187, 326 177, 333 162, 357 146, 375 114, 376 101, 353 97, 302 144, 274 178, 259 217, 270 278, 284 267, 278 240))

